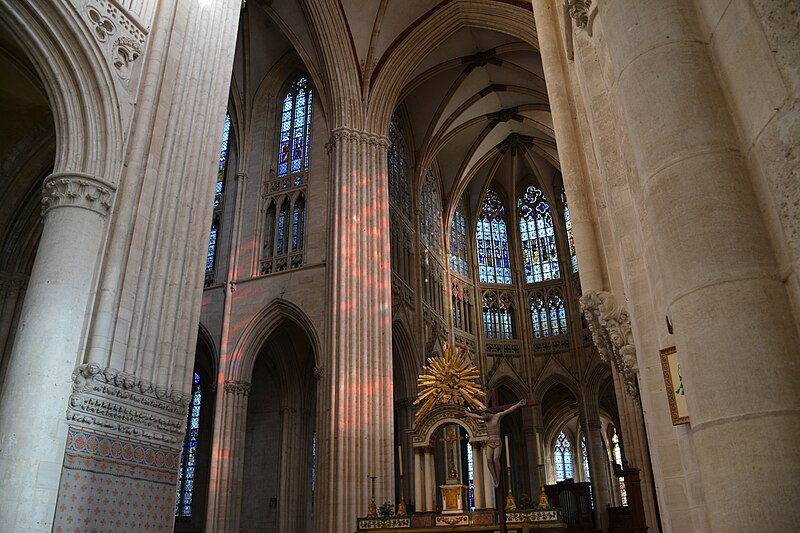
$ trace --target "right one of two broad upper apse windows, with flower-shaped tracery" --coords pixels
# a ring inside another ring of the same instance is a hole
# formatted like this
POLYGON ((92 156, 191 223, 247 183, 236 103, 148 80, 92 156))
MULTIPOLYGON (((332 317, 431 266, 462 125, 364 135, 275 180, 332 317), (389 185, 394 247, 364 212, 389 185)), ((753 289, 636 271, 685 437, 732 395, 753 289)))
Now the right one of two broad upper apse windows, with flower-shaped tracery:
POLYGON ((525 261, 525 281, 536 283, 559 278, 553 217, 544 193, 534 185, 519 199, 519 232, 525 261))

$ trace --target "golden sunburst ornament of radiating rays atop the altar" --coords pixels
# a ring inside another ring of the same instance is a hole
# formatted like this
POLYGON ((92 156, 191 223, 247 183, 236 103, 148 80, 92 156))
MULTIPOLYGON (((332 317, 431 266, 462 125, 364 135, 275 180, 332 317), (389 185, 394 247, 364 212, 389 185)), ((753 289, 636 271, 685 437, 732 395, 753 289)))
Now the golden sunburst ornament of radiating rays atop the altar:
POLYGON ((467 357, 464 349, 455 353, 450 345, 442 346, 442 355, 428 357, 417 378, 419 394, 414 405, 422 403, 416 417, 424 415, 436 405, 469 405, 473 410, 486 409, 479 397, 486 394, 478 382, 478 369, 467 357))

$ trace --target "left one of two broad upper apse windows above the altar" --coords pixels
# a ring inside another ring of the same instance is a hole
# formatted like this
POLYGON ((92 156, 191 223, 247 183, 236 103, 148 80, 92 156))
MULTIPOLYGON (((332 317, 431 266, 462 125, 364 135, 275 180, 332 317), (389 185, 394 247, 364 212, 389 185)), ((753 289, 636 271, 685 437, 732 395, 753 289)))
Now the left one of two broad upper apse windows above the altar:
POLYGON ((483 283, 511 284, 508 233, 504 216, 505 208, 500 197, 494 190, 487 190, 475 235, 478 269, 483 283))

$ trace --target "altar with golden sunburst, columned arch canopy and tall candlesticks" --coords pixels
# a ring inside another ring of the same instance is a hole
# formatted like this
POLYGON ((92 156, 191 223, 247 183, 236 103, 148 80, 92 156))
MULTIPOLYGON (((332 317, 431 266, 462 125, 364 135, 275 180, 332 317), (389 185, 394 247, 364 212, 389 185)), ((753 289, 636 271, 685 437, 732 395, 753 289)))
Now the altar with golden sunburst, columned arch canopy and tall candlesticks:
MULTIPOLYGON (((465 410, 466 405, 484 413, 489 411, 478 399, 483 393, 477 383, 477 369, 464 351, 456 353, 445 344, 442 352, 441 356, 428 358, 428 365, 424 367, 427 373, 419 377, 421 390, 414 403, 422 403, 422 406, 416 413, 412 428, 407 431, 414 450, 413 500, 416 512, 406 514, 402 492, 403 464, 400 460, 401 492, 396 514, 393 514, 395 509, 389 502, 378 513, 373 489, 368 516, 357 519, 358 533, 566 531, 561 511, 550 507, 544 488, 537 504, 526 498, 525 502, 520 502, 526 508, 517 507, 510 487, 508 454, 507 480, 500 485, 501 490, 507 490, 507 495, 495 490, 492 476, 502 475, 497 466, 492 469, 489 464, 492 451, 499 450, 496 424, 504 413, 524 406, 525 401, 501 410, 495 418, 470 416, 465 410), (495 424, 491 426, 495 432, 493 435, 487 431, 487 420, 495 424), (472 454, 474 479, 472 476, 469 478, 471 485, 465 483, 463 465, 466 461, 458 457, 459 448, 456 446, 465 440, 468 440, 472 454), (444 446, 443 450, 439 448, 438 461, 437 444, 444 446)), ((402 457, 402 453, 398 453, 398 457, 402 457)), ((499 464, 496 457, 495 461, 499 464)))

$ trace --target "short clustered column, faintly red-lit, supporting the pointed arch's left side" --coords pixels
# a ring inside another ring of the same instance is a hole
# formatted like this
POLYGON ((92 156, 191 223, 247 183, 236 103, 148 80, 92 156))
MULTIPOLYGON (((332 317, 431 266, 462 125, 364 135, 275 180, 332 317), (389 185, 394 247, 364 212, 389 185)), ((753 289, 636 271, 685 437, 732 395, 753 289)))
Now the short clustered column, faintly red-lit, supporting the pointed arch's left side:
POLYGON ((211 531, 239 531, 249 394, 250 384, 243 381, 226 381, 217 390, 206 515, 206 528, 211 531))

